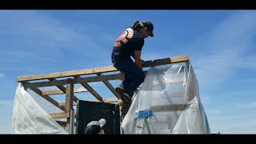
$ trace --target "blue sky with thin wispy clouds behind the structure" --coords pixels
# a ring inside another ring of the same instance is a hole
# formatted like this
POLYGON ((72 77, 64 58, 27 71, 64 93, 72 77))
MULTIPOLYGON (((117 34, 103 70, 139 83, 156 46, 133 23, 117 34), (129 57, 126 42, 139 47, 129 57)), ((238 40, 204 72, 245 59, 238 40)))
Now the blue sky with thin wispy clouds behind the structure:
POLYGON ((213 133, 256 133, 255 10, 0 10, 0 133, 11 133, 17 77, 110 66, 135 20, 154 23, 142 59, 189 55, 213 133))

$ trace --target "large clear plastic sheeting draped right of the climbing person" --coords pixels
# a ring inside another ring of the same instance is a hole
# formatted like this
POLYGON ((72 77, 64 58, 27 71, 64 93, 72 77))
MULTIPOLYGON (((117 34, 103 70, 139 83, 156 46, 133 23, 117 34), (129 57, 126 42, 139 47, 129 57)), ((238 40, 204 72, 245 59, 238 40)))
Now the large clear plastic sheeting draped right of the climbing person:
POLYGON ((122 121, 122 134, 210 134, 189 62, 147 71, 122 121))

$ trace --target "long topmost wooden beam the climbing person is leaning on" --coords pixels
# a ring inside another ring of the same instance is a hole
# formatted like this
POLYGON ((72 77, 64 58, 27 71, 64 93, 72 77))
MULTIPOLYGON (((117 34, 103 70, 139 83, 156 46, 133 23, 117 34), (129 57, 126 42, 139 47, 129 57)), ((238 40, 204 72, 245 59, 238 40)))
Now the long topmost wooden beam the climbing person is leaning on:
MULTIPOLYGON (((162 58, 156 59, 152 61, 146 61, 142 66, 158 66, 164 64, 170 64, 175 62, 186 62, 189 61, 188 56, 179 56, 173 58, 162 58)), ((114 66, 105 66, 105 67, 98 67, 93 69, 84 69, 84 70, 72 70, 72 71, 64 71, 64 72, 57 72, 57 73, 50 73, 50 74, 37 74, 37 75, 29 75, 24 77, 18 77, 17 81, 32 81, 32 80, 39 80, 39 79, 47 79, 47 78, 62 78, 62 77, 70 77, 75 75, 85 75, 85 74, 97 74, 97 73, 106 73, 106 72, 113 72, 118 71, 114 66)))

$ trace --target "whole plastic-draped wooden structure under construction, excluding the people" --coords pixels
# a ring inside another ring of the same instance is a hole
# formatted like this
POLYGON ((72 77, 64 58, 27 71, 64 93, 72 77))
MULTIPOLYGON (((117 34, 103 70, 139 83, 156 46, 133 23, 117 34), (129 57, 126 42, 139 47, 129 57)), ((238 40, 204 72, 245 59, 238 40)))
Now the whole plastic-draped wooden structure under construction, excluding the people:
POLYGON ((210 134, 189 56, 148 60, 142 67, 145 81, 126 114, 111 84, 122 82, 124 74, 114 66, 18 77, 14 134, 84 134, 86 124, 100 118, 106 119, 105 134, 210 134), (98 94, 90 86, 94 82, 102 82, 112 95, 98 94), (46 87, 51 89, 43 90, 46 87), (93 100, 86 99, 88 93, 93 100))

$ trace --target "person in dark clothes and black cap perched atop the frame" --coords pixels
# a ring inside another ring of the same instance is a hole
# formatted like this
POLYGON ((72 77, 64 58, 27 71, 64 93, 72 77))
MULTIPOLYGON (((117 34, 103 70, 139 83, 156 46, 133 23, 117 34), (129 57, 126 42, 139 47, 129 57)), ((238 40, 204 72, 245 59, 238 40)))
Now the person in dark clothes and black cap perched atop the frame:
MULTIPOLYGON (((145 74, 141 59, 144 38, 154 37, 154 25, 150 21, 134 22, 114 42, 111 60, 114 67, 125 74, 124 81, 115 88, 122 102, 130 104, 134 91, 142 84, 145 74), (134 61, 130 57, 134 58, 134 61)), ((129 108, 128 108, 129 109, 129 108)))

